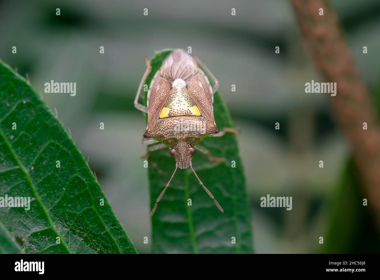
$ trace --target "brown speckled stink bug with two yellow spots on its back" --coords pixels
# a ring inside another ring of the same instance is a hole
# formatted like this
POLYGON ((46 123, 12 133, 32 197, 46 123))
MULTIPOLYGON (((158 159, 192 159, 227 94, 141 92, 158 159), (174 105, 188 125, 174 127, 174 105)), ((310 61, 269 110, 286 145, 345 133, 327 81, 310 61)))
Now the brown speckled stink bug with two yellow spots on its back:
POLYGON ((215 124, 212 104, 214 93, 218 89, 217 79, 195 56, 182 49, 173 50, 152 78, 147 93, 147 106, 144 106, 138 103, 138 99, 144 82, 152 70, 148 58, 146 58, 146 65, 147 69, 134 102, 137 109, 148 114, 148 125, 143 135, 147 139, 143 140, 143 144, 158 143, 150 146, 149 151, 169 147, 170 155, 176 160, 173 175, 157 198, 150 216, 154 214, 157 203, 165 194, 177 168, 184 169, 189 166, 199 184, 214 200, 219 210, 224 212, 214 195, 198 178, 191 162, 195 154, 195 146, 200 152, 207 154, 209 160, 224 162, 224 158, 212 157, 209 151, 198 143, 208 136, 222 136, 226 132, 237 132, 231 128, 223 128, 219 131, 215 124), (213 86, 202 69, 213 80, 213 86))

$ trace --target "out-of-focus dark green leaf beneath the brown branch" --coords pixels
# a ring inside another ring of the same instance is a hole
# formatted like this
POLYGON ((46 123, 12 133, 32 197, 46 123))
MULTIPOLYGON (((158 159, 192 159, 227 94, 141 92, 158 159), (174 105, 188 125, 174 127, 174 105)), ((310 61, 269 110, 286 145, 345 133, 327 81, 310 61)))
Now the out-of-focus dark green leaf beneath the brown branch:
POLYGON ((379 253, 380 239, 370 213, 363 205, 359 173, 350 158, 342 173, 337 192, 331 198, 330 221, 321 253, 359 254, 379 253))

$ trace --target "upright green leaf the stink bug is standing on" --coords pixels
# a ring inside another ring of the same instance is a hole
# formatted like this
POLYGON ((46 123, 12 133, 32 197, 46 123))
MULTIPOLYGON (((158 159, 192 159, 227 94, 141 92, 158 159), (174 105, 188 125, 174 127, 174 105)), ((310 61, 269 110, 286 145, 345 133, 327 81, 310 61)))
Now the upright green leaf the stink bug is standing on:
MULTIPOLYGON (((155 72, 172 50, 157 52, 151 60, 152 72, 145 81, 150 84, 155 72)), ((146 99, 146 92, 143 92, 146 99)), ((146 104, 146 100, 144 100, 146 104)), ((222 130, 232 127, 230 113, 220 95, 214 95, 215 122, 222 130)), ((177 170, 152 217, 154 253, 253 253, 250 207, 236 135, 210 137, 200 142, 214 157, 225 163, 209 162, 199 151, 193 156, 193 167, 204 185, 223 207, 221 213, 199 185, 190 168, 177 170), (231 162, 236 162, 236 168, 231 162), (188 206, 188 198, 192 206, 188 206), (233 237, 236 244, 233 244, 233 237)), ((150 207, 166 186, 175 168, 169 149, 149 152, 150 207)))

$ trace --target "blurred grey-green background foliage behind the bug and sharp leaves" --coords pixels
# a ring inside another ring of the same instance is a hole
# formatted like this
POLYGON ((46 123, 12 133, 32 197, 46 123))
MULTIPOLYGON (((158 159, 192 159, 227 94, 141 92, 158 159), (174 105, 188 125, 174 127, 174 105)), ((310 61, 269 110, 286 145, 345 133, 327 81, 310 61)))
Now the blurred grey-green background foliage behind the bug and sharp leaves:
MULTIPOLYGON (((375 92, 380 2, 330 2, 375 92)), ((288 1, 0 0, 0 35, 1 59, 28 74, 47 105, 57 109, 139 253, 151 250, 143 243, 151 225, 147 170, 140 159, 146 153, 141 145, 146 123, 133 98, 146 67, 144 56, 187 46, 218 78, 220 94, 242 131, 238 141, 255 251, 380 252, 327 95, 304 93, 306 82, 322 80, 288 1), (51 80, 76 82, 76 96, 44 93, 44 83, 51 80), (318 168, 320 160, 324 168, 318 168), (292 196, 293 210, 261 208, 260 197, 267 194, 292 196), (318 244, 320 236, 324 245, 318 244)))

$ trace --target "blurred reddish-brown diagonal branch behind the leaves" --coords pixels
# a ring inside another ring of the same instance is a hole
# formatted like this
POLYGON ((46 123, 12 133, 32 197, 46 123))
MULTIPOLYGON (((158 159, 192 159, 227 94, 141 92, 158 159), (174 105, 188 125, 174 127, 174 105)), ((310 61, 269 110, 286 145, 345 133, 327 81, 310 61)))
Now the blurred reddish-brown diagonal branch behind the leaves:
POLYGON ((380 229, 380 127, 369 92, 351 59, 337 15, 325 0, 291 2, 317 68, 325 82, 337 83, 336 96, 329 95, 332 114, 351 144, 368 205, 380 229), (319 15, 320 8, 323 16, 319 15), (363 130, 364 122, 367 130, 363 130))

